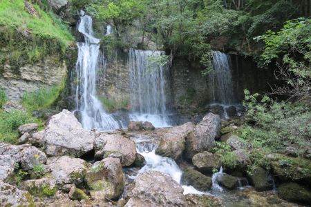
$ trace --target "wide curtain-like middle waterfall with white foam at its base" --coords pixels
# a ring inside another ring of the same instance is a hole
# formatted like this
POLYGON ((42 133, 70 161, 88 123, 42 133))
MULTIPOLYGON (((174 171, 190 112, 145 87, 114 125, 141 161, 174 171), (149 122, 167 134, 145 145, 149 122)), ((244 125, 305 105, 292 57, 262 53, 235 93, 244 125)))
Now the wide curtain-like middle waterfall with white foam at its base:
POLYGON ((170 126, 165 97, 167 66, 152 64, 150 58, 162 51, 129 50, 132 121, 150 121, 156 127, 170 126))

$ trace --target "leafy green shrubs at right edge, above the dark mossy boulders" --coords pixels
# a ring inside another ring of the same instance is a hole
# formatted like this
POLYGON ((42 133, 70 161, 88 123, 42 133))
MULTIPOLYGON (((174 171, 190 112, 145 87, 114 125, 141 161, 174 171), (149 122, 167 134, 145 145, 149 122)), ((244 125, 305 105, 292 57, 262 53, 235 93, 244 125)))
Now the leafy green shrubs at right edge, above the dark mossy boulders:
POLYGON ((243 104, 247 108, 247 115, 254 117, 256 126, 246 125, 239 129, 238 134, 252 148, 267 148, 272 152, 279 152, 286 146, 294 145, 297 154, 301 155, 305 148, 310 147, 310 106, 278 102, 266 95, 250 95, 247 90, 243 104))

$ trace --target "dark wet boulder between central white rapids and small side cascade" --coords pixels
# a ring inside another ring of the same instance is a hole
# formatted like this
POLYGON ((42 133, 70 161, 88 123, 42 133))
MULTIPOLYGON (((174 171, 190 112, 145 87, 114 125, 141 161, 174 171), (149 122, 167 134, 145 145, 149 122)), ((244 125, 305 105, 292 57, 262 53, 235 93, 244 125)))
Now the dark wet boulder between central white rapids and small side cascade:
POLYGON ((194 186, 194 188, 200 191, 211 189, 211 177, 207 177, 191 167, 186 167, 183 170, 182 184, 194 186))

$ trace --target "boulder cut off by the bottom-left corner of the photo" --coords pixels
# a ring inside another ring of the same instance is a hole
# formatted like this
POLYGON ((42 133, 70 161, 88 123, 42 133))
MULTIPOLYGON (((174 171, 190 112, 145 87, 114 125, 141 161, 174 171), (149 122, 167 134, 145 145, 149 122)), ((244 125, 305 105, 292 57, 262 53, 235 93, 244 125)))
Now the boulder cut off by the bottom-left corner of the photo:
POLYGON ((0 205, 1 206, 35 206, 30 193, 19 190, 15 186, 0 181, 0 205))

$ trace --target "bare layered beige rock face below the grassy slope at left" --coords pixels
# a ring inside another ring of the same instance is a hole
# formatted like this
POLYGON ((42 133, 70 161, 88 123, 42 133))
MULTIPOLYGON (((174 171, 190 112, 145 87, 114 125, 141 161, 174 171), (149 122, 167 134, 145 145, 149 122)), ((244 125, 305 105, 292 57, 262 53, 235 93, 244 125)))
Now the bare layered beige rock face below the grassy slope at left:
POLYGON ((19 100, 23 92, 59 84, 66 76, 66 70, 66 61, 59 60, 57 55, 21 66, 19 72, 14 72, 12 66, 5 64, 0 76, 0 88, 6 90, 9 99, 19 100))

